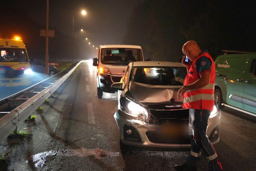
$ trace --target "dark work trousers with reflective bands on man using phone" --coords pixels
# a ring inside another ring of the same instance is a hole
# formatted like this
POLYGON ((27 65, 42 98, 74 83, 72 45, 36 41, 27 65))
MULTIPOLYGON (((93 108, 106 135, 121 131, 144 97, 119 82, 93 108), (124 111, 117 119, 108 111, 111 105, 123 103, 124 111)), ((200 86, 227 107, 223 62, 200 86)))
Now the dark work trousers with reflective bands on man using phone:
POLYGON ((197 162, 201 157, 201 152, 208 159, 210 171, 222 171, 218 156, 212 143, 206 135, 208 118, 211 111, 189 109, 189 138, 191 139, 191 151, 187 157, 186 164, 197 166, 197 162))

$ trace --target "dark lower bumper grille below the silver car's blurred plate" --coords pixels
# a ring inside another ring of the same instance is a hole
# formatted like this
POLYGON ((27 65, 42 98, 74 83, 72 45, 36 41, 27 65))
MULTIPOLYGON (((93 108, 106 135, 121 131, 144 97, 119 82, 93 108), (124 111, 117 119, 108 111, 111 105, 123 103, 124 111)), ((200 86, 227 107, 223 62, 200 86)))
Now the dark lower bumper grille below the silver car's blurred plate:
POLYGON ((146 136, 150 142, 161 144, 190 144, 189 137, 163 136, 157 131, 147 131, 146 136))

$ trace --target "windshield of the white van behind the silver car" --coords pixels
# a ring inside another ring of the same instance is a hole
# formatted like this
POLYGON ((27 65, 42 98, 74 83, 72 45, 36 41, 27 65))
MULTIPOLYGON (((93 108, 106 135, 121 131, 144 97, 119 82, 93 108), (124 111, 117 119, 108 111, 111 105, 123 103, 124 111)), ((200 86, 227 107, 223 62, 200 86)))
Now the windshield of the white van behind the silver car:
POLYGON ((142 61, 141 49, 103 48, 101 50, 102 64, 128 65, 132 61, 142 61))

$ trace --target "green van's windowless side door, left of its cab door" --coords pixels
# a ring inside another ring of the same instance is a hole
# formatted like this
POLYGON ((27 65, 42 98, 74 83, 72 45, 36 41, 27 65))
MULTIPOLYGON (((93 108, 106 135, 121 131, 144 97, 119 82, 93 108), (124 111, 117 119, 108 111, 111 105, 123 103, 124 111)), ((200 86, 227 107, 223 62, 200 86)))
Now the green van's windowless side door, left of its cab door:
MULTIPOLYGON (((227 104, 243 108, 243 83, 245 81, 246 58, 233 56, 232 58, 223 58, 223 64, 229 66, 227 74, 227 104)), ((221 62, 221 61, 220 61, 221 62)))

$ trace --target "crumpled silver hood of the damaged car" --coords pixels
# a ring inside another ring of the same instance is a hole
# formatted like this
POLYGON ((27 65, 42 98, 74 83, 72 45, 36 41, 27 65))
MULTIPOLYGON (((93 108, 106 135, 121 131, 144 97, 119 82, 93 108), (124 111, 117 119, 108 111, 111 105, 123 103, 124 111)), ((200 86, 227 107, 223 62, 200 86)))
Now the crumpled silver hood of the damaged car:
POLYGON ((183 97, 178 99, 177 92, 182 86, 159 86, 130 81, 129 91, 137 102, 144 106, 150 104, 182 104, 183 97), (175 103, 170 99, 175 99, 175 103))

